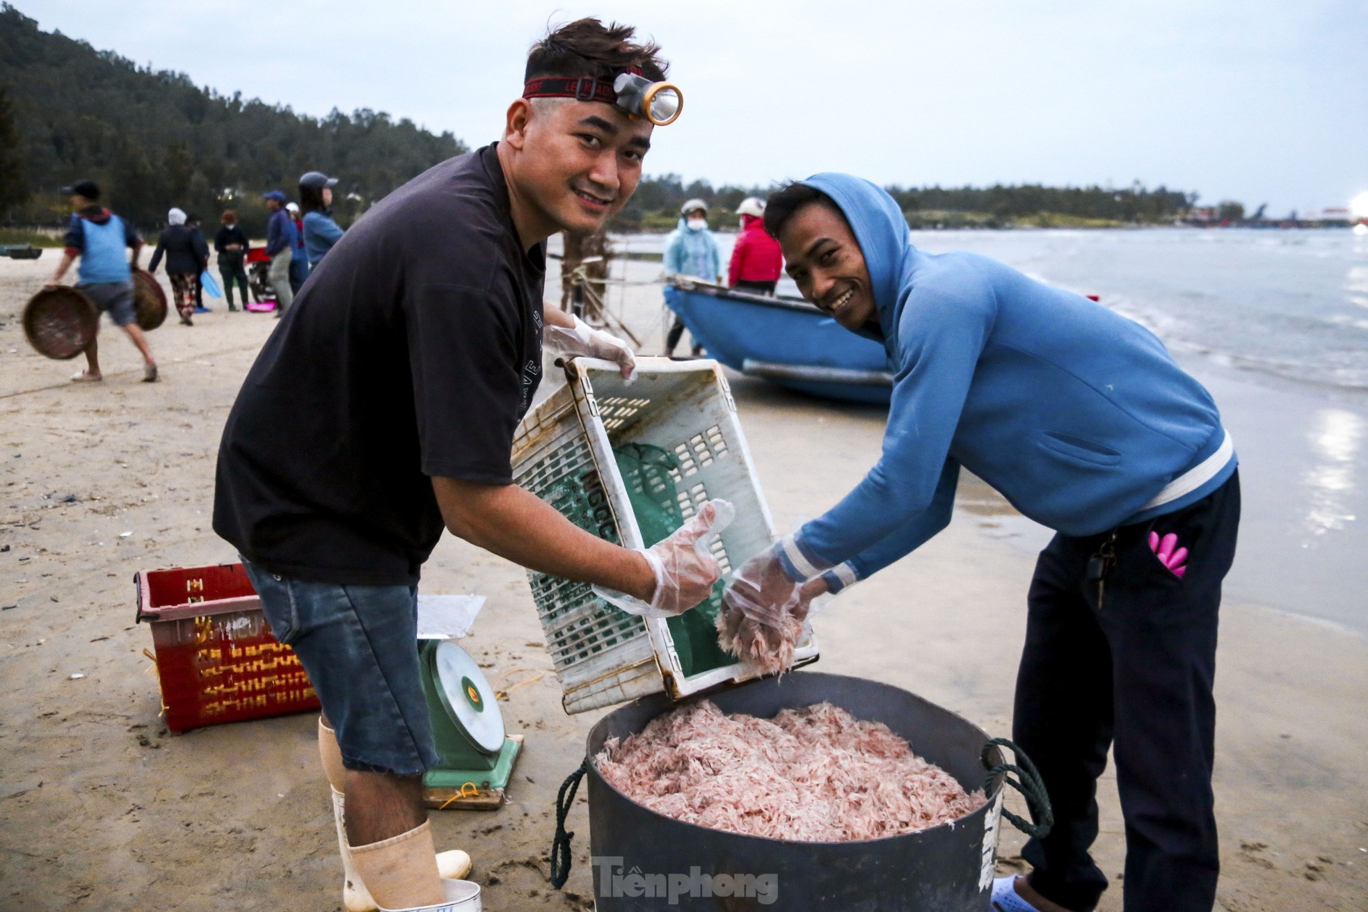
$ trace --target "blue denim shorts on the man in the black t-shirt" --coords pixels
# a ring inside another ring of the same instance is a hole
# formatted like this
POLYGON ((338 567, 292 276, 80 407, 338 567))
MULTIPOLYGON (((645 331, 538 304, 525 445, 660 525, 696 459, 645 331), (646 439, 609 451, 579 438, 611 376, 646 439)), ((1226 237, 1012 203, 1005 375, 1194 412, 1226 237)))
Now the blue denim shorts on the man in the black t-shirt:
POLYGON ((397 775, 436 764, 419 678, 417 589, 305 582, 242 566, 271 630, 309 673, 342 764, 397 775))

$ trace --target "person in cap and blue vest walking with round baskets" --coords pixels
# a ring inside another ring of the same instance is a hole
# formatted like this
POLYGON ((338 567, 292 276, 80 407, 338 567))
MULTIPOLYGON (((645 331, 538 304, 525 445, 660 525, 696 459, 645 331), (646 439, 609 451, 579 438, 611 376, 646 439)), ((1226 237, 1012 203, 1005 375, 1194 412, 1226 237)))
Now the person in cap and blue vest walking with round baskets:
MULTIPOLYGON (((114 324, 123 330, 138 354, 142 356, 142 379, 153 383, 157 379, 157 362, 152 358, 148 338, 138 325, 137 306, 133 291, 133 271, 138 268, 138 253, 142 238, 133 226, 100 205, 100 187, 94 180, 77 180, 62 193, 71 198, 71 222, 63 239, 66 247, 56 272, 45 287, 62 283, 62 278, 79 258, 77 267, 77 289, 85 293, 101 313, 108 313, 114 324), (133 250, 131 263, 124 257, 124 249, 133 250)), ((100 373, 98 338, 92 339, 85 350, 86 368, 71 379, 77 383, 90 383, 104 379, 100 373)))

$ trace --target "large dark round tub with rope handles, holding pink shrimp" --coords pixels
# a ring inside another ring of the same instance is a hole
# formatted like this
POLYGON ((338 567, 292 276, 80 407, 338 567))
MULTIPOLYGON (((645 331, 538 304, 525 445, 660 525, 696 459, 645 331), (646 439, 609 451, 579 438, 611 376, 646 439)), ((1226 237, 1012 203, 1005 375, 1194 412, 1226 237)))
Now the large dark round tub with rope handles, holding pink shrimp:
MULTIPOLYGON (((982 788, 988 736, 975 725, 900 688, 862 678, 796 671, 710 696, 725 712, 772 718, 828 700, 859 719, 885 723, 912 751, 982 788)), ((982 912, 988 909, 1003 777, 988 804, 928 830, 859 842, 789 842, 683 823, 610 786, 592 757, 607 738, 636 734, 676 704, 653 695, 603 716, 588 737, 590 845, 599 912, 636 909, 784 909, 803 912, 982 912)), ((988 760, 1001 763, 997 748, 988 760)))

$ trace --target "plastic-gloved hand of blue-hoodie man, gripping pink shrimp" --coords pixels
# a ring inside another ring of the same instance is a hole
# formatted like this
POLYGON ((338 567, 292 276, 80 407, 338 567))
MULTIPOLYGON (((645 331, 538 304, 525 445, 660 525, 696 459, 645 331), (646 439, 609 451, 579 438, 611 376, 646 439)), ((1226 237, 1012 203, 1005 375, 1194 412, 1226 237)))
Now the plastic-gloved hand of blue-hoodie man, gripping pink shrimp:
POLYGON ((718 641, 762 674, 793 665, 793 647, 814 599, 826 592, 821 580, 793 582, 774 548, 755 555, 732 576, 717 615, 718 641))

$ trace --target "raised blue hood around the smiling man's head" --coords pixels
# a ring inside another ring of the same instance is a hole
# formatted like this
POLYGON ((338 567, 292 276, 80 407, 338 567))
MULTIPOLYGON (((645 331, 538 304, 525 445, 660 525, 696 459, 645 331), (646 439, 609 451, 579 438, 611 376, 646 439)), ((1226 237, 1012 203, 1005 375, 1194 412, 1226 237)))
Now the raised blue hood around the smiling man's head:
POLYGON ((910 275, 908 261, 915 253, 907 230, 907 219, 893 197, 882 187, 848 174, 826 171, 814 174, 802 183, 821 190, 840 206, 855 231, 869 279, 874 289, 878 323, 884 330, 884 345, 889 353, 897 342, 897 319, 902 316, 903 278, 910 275))

